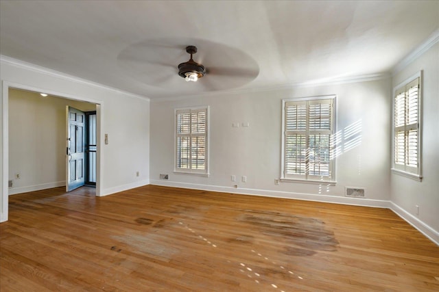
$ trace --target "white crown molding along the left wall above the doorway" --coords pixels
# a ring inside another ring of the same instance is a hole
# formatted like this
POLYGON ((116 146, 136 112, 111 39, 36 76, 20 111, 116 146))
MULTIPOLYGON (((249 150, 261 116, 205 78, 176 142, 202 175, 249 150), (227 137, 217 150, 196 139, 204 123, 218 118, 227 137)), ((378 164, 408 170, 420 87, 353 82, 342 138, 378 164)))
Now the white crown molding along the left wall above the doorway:
POLYGON ((127 95, 127 96, 132 97, 132 98, 140 98, 143 101, 150 101, 150 98, 147 98, 145 96, 133 94, 131 92, 126 92, 126 91, 123 91, 123 90, 119 90, 117 88, 112 88, 112 87, 110 87, 108 85, 103 85, 101 83, 97 83, 97 82, 93 82, 93 81, 88 81, 88 80, 82 79, 80 77, 75 77, 73 75, 68 75, 68 74, 65 74, 63 72, 59 72, 59 71, 56 71, 56 70, 52 70, 52 69, 49 69, 49 68, 38 66, 38 65, 35 65, 35 64, 32 64, 32 63, 24 62, 24 61, 21 61, 19 59, 14 59, 12 57, 8 57, 8 56, 5 56, 5 55, 0 55, 0 62, 4 63, 4 64, 9 64, 11 66, 23 68, 23 69, 26 69, 26 70, 31 70, 31 71, 34 71, 34 72, 37 72, 37 73, 49 75, 51 77, 56 77, 56 78, 64 79, 64 80, 67 80, 67 81, 73 81, 75 83, 81 83, 81 84, 88 85, 88 86, 93 86, 93 87, 99 88, 99 89, 110 90, 112 92, 116 92, 118 94, 124 94, 124 95, 127 95))

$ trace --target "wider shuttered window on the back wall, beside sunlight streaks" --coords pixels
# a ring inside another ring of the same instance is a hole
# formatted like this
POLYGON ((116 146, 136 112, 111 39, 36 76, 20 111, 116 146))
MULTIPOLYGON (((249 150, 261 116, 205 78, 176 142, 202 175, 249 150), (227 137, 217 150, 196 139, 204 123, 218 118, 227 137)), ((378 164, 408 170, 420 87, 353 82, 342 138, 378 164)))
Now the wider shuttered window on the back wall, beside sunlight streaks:
POLYGON ((334 181, 334 100, 283 101, 283 179, 334 181))

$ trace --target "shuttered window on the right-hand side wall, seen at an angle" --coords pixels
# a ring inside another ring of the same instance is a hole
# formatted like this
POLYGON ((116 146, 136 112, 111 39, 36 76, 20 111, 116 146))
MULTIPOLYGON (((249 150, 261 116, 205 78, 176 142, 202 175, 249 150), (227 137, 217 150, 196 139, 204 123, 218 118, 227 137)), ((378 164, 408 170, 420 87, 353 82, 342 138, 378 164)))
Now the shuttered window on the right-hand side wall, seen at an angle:
POLYGON ((420 72, 394 89, 393 170, 420 180, 420 72))

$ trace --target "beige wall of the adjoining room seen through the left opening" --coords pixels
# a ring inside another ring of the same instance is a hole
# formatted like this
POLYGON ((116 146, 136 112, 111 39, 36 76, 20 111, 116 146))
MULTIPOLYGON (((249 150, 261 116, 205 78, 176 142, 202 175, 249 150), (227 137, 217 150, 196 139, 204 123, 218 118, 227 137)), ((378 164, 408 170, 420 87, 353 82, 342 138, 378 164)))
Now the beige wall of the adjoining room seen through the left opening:
POLYGON ((65 185, 67 105, 96 110, 93 103, 9 90, 10 195, 65 185))

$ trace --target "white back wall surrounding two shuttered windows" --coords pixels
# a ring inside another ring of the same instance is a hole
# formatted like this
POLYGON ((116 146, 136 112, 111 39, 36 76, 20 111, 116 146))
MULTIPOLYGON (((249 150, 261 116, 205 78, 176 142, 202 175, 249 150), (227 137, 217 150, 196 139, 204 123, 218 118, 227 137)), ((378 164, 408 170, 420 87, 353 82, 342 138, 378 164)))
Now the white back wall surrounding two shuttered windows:
POLYGON ((364 81, 262 92, 215 94, 151 103, 150 180, 172 185, 347 204, 388 207, 390 199, 390 80, 364 81), (283 98, 337 95, 337 131, 344 137, 353 124, 359 144, 342 142, 335 186, 307 183, 274 185, 281 176, 281 101, 283 98), (174 109, 209 105, 210 176, 174 174, 174 109), (239 122, 238 128, 232 127, 239 122), (250 127, 242 127, 248 122, 250 127), (169 181, 159 179, 169 174, 169 181), (237 176, 236 183, 230 175, 237 176), (247 182, 241 182, 247 176, 247 182), (366 200, 344 198, 344 187, 366 188, 366 200))

